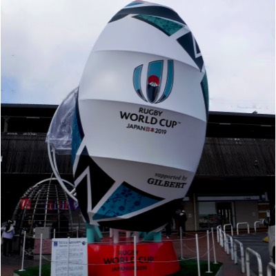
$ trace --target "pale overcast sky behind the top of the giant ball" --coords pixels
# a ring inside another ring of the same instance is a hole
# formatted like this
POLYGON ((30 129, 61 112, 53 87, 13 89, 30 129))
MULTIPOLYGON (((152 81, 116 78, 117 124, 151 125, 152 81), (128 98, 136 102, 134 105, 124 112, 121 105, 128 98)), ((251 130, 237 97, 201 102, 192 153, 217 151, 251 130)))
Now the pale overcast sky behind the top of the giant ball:
MULTIPOLYGON (((1 0, 1 103, 57 104, 79 86, 126 0, 1 0)), ((193 32, 210 110, 275 114, 275 0, 156 0, 193 32)))

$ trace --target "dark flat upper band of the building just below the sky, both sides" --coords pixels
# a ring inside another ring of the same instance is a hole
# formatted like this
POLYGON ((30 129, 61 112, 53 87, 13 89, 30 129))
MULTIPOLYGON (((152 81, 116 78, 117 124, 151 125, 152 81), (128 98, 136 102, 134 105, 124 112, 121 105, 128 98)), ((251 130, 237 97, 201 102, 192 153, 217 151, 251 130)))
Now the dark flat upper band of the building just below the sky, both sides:
MULTIPOLYGON (((46 133, 57 108, 57 105, 1 103, 1 132, 46 133)), ((210 111, 206 137, 275 139, 275 115, 210 111)))

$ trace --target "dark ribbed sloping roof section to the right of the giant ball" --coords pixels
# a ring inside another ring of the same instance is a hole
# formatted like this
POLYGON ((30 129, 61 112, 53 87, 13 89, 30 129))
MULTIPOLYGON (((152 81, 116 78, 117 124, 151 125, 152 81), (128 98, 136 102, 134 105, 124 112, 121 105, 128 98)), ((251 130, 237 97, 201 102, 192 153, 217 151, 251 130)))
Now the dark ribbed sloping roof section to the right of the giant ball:
POLYGON ((197 176, 275 176, 275 139, 206 137, 197 176))

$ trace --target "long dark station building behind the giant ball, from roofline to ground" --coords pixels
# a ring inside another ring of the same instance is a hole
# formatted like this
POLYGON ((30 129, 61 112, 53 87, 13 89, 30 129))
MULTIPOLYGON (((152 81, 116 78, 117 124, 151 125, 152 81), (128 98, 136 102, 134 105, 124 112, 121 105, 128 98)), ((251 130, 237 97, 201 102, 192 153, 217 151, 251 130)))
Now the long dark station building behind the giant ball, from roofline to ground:
MULTIPOLYGON (((57 107, 1 104, 1 222, 26 190, 52 176, 46 135, 57 107)), ((58 155, 57 164, 61 178, 73 183, 70 155, 58 155)), ((210 111, 199 166, 179 206, 186 230, 239 222, 262 228, 273 206, 275 115, 210 111)))

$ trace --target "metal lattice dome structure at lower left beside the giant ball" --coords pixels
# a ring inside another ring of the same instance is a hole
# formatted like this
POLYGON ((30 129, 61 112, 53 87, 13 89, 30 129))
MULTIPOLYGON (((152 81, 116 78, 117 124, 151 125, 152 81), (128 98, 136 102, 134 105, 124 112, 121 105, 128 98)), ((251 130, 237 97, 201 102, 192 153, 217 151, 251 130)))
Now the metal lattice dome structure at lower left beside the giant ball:
MULTIPOLYGON (((63 180, 68 188, 70 182, 63 180)), ((86 235, 83 217, 76 201, 68 197, 56 178, 48 178, 28 188, 14 210, 19 234, 26 231, 34 235, 35 228, 47 228, 55 231, 55 237, 76 237, 86 235)))

